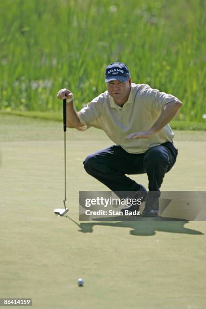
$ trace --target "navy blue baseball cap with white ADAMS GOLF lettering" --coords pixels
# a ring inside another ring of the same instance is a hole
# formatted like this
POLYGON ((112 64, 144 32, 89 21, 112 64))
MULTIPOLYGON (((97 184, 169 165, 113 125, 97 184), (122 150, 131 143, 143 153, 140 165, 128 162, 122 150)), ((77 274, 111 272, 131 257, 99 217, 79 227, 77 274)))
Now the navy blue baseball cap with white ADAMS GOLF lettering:
POLYGON ((128 67, 122 62, 113 62, 107 66, 105 70, 105 82, 108 83, 111 80, 119 80, 126 82, 130 77, 128 67))

